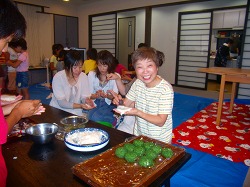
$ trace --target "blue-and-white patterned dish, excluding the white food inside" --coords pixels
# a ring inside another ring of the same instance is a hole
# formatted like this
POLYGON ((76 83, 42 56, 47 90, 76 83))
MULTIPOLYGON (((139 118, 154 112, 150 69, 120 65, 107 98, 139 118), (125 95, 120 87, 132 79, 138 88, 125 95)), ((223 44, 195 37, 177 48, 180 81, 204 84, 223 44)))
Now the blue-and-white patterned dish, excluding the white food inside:
POLYGON ((75 151, 81 151, 81 152, 89 152, 89 151, 95 151, 95 150, 101 149, 105 147, 108 144, 108 142, 109 142, 109 134, 106 131, 97 129, 97 128, 76 129, 76 130, 70 131, 64 137, 64 143, 68 148, 75 150, 75 151), (68 137, 73 135, 74 133, 79 133, 79 132, 89 132, 89 133, 99 132, 101 133, 101 142, 95 143, 95 144, 87 144, 87 145, 78 145, 78 144, 70 143, 68 140, 68 137))

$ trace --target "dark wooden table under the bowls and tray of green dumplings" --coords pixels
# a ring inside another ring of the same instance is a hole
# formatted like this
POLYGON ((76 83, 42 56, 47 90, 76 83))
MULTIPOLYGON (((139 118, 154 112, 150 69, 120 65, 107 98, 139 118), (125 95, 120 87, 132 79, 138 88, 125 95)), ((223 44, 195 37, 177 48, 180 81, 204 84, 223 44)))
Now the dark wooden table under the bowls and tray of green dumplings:
MULTIPOLYGON (((45 105, 46 112, 41 116, 33 116, 34 122, 57 123, 61 118, 72 115, 62 110, 45 105)), ((35 145, 28 137, 10 139, 2 147, 3 156, 8 169, 7 186, 88 186, 78 177, 72 174, 72 167, 80 162, 96 156, 122 142, 132 135, 89 121, 87 127, 100 128, 107 131, 110 141, 104 148, 93 152, 77 152, 67 148, 63 141, 55 139, 46 145, 35 145)), ((170 185, 170 178, 189 159, 191 155, 185 155, 155 180, 151 186, 159 186, 163 182, 170 185)))

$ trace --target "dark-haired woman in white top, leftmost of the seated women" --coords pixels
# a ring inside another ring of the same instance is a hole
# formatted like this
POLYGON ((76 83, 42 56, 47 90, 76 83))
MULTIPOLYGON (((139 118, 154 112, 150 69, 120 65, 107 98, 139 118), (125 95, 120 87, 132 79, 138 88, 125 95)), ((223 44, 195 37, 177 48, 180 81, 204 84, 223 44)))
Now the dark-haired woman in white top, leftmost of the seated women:
POLYGON ((55 74, 52 82, 53 95, 50 106, 82 116, 83 109, 94 108, 89 99, 91 93, 88 77, 82 72, 81 54, 70 50, 65 54, 65 70, 55 74))

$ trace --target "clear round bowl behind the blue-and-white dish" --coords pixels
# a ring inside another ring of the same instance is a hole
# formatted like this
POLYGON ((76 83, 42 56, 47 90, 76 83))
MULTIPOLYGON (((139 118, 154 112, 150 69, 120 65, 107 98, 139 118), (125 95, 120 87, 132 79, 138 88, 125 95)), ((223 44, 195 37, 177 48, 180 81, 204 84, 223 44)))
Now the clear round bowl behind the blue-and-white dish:
POLYGON ((60 123, 63 125, 65 132, 70 132, 71 130, 84 128, 85 124, 88 122, 87 115, 84 116, 68 116, 61 119, 60 123))

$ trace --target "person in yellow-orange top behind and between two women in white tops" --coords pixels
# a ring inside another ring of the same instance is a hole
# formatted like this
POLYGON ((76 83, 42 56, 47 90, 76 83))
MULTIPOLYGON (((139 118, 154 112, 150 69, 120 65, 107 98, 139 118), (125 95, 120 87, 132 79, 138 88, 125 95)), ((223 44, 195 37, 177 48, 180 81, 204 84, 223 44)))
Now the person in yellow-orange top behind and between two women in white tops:
POLYGON ((86 75, 88 75, 90 71, 96 69, 96 57, 97 50, 95 48, 89 48, 87 51, 87 60, 84 61, 82 66, 82 71, 85 72, 86 75))

